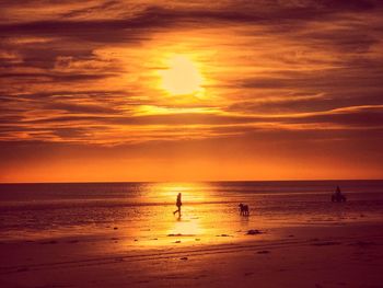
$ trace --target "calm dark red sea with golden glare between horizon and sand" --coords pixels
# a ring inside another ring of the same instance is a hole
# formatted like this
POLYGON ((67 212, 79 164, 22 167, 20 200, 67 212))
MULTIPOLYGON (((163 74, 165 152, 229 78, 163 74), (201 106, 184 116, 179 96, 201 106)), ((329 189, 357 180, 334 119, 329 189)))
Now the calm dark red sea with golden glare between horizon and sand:
POLYGON ((356 221, 383 221, 383 181, 0 184, 0 240, 95 235, 113 227, 139 238, 356 221), (337 185, 346 204, 329 201, 337 185), (239 203, 251 207, 245 223, 239 203))

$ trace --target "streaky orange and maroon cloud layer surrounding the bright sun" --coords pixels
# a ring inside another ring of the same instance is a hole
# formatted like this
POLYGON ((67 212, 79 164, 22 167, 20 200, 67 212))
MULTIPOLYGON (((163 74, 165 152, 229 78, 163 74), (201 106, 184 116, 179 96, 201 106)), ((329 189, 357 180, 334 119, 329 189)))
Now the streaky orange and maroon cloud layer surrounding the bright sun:
POLYGON ((2 140, 381 128, 381 1, 20 3, 1 3, 2 140), (159 89, 172 53, 200 61, 205 97, 159 89))

